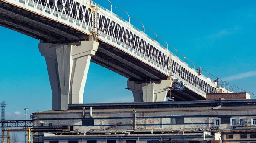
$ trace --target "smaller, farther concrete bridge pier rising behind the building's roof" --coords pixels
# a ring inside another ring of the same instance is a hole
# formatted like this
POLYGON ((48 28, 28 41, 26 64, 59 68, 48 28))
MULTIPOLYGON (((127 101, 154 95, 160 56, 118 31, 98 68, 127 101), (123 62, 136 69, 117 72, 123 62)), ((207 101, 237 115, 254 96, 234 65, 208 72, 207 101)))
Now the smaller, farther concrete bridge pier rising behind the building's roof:
POLYGON ((134 102, 163 102, 172 87, 172 80, 157 82, 127 81, 128 89, 132 91, 134 102))

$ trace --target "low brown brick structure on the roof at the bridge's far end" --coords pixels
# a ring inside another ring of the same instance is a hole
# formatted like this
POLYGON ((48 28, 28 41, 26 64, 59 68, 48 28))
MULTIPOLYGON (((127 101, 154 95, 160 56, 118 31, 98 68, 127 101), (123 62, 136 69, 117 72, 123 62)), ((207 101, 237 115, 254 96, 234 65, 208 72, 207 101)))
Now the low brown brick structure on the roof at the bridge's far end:
POLYGON ((207 93, 206 100, 218 100, 224 98, 226 100, 250 99, 249 93, 207 93))

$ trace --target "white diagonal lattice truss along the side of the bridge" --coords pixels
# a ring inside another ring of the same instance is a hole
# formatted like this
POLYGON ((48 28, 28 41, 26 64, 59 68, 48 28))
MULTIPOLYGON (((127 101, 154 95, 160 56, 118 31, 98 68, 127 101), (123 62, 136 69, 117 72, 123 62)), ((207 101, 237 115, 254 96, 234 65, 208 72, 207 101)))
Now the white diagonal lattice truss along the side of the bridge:
MULTIPOLYGON (((102 42, 122 50, 187 84, 190 90, 201 95, 217 93, 215 82, 198 73, 151 37, 123 20, 121 17, 97 5, 91 0, 0 0, 63 23, 73 29, 91 35, 98 35, 102 42), (96 22, 96 23, 95 23, 96 22)), ((44 24, 44 23, 43 23, 44 24)), ((56 28, 49 28, 56 31, 56 28)), ((62 31, 58 30, 57 33, 62 31)), ((70 39, 73 38, 73 35, 70 39)), ((63 35, 64 35, 63 34, 63 35)), ((42 35, 44 36, 44 35, 42 35)), ((54 37, 51 39, 54 40, 54 37)))

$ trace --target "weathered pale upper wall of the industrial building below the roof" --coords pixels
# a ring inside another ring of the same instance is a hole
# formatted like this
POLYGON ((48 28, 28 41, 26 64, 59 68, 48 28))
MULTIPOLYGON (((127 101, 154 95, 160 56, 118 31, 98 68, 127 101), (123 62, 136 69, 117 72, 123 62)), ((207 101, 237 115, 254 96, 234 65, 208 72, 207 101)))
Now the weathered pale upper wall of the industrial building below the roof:
MULTIPOLYGON (((78 113, 58 113, 58 114, 40 114, 40 119, 37 116, 36 126, 40 126, 40 123, 44 123, 44 126, 74 126, 79 130, 90 129, 105 129, 122 122, 115 129, 133 129, 133 114, 132 112, 119 111, 109 112, 93 112, 94 117, 85 118, 82 117, 81 112, 78 113), (93 119, 94 126, 82 125, 83 119, 93 119)), ((256 109, 253 110, 198 110, 198 111, 160 111, 160 112, 136 112, 136 127, 137 129, 151 129, 151 128, 201 128, 201 127, 214 127, 214 119, 231 115, 231 118, 236 118, 238 123, 239 118, 251 121, 252 118, 256 118, 256 109), (233 115, 233 116, 232 116, 233 115), (172 118, 182 117, 184 118, 183 124, 172 124, 172 118)), ((250 125, 250 123, 249 123, 250 125)), ((220 129, 231 129, 230 123, 221 123, 220 129)))

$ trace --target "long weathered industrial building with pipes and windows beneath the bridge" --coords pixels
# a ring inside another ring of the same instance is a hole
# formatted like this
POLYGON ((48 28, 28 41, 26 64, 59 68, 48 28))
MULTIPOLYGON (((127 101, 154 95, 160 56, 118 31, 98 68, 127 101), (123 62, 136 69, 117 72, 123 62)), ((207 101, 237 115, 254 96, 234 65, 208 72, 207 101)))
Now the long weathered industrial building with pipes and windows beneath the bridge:
POLYGON ((32 116, 34 143, 256 143, 256 100, 69 104, 32 116))

